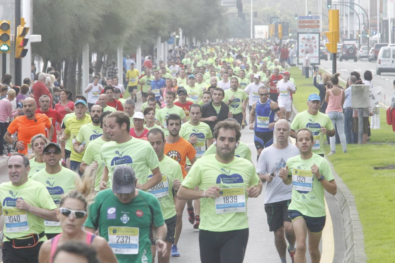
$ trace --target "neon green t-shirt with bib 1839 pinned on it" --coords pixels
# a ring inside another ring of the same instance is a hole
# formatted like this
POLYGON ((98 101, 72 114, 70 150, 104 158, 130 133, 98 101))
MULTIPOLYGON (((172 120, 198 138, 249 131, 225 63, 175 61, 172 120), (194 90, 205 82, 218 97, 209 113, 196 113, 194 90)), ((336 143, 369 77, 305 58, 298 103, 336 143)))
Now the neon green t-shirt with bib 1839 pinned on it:
POLYGON ((260 179, 251 162, 234 158, 228 164, 218 162, 215 155, 200 158, 192 166, 182 185, 206 190, 216 185, 221 188, 219 198, 200 199, 199 229, 223 232, 248 228, 247 192, 260 179))

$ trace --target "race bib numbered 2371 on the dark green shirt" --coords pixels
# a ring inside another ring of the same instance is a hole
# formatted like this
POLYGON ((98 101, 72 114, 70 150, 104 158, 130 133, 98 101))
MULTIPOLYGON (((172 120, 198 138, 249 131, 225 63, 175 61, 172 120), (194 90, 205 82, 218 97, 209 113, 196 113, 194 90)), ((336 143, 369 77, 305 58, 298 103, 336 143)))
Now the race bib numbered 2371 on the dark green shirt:
POLYGON ((127 226, 108 227, 108 244, 114 254, 138 254, 139 228, 127 226))

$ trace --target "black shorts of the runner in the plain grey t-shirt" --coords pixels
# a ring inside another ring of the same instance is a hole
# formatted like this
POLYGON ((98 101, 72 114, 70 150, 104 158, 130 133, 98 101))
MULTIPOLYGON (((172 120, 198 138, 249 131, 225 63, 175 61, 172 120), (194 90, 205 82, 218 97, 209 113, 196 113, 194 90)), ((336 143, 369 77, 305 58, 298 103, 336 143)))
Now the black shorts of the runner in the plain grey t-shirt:
POLYGON ((290 203, 291 199, 265 204, 265 212, 267 216, 267 224, 269 224, 269 231, 276 231, 284 225, 284 222, 291 222, 291 219, 288 216, 288 206, 290 203))

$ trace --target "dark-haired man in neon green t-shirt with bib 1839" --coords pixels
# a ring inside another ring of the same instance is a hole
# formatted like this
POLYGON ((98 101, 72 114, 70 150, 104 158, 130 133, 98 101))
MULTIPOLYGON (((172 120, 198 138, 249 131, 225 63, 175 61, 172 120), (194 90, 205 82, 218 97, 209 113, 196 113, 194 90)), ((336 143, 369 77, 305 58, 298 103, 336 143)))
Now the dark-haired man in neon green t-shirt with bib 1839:
POLYGON ((202 198, 201 262, 243 262, 248 242, 246 202, 260 195, 262 183, 251 162, 234 156, 240 136, 240 125, 233 121, 217 123, 216 154, 197 160, 177 193, 184 200, 202 198), (196 186, 199 190, 194 190, 196 186))

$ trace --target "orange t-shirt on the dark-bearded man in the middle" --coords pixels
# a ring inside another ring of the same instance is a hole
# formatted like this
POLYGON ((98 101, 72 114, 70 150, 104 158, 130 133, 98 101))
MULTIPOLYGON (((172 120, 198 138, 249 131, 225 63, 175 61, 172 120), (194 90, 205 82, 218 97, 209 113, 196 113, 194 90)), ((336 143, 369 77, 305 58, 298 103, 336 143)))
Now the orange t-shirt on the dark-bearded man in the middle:
POLYGON ((184 138, 174 144, 165 144, 165 154, 171 159, 177 161, 181 166, 182 177, 185 178, 188 172, 185 171, 186 157, 189 160, 194 159, 196 155, 195 148, 184 138))

